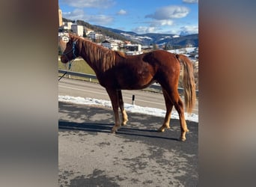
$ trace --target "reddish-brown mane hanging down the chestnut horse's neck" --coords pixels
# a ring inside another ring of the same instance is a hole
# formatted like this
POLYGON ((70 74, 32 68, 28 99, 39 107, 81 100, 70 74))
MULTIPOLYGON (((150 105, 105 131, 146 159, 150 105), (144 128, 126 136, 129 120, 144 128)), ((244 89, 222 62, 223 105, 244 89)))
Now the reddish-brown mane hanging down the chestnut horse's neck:
POLYGON ((124 53, 115 52, 110 49, 106 49, 103 46, 97 45, 89 40, 85 40, 81 37, 74 36, 74 40, 78 42, 80 55, 84 54, 86 56, 88 63, 97 70, 102 70, 105 72, 109 68, 115 66, 116 54, 125 58, 124 53))

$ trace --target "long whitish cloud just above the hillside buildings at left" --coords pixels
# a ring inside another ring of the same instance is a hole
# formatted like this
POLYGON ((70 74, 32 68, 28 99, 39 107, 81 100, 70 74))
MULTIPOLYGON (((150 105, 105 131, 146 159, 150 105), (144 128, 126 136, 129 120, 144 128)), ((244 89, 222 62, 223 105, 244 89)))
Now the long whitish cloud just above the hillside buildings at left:
POLYGON ((84 13, 84 10, 82 9, 75 9, 72 12, 64 12, 62 13, 63 17, 66 19, 72 19, 72 20, 84 20, 85 22, 90 22, 94 24, 99 24, 99 25, 107 25, 111 22, 113 22, 113 17, 112 16, 106 16, 103 14, 97 14, 95 15, 88 15, 84 13))

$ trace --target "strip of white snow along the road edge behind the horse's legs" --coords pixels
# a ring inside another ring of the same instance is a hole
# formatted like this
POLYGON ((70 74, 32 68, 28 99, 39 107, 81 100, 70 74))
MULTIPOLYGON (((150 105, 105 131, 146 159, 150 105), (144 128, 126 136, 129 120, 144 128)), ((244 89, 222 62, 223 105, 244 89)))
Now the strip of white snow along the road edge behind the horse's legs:
MULTIPOLYGON (((100 105, 106 108, 112 108, 112 104, 110 101, 103 100, 103 99, 92 99, 92 98, 84 98, 81 96, 58 96, 58 101, 61 102, 71 102, 79 105, 100 105)), ((131 104, 124 104, 124 108, 126 111, 139 113, 139 114, 148 114, 158 117, 165 117, 165 110, 159 108, 149 108, 149 107, 141 107, 138 105, 131 105, 131 104)), ((171 111, 171 118, 172 119, 179 119, 179 115, 177 111, 171 111)), ((186 120, 198 122, 198 115, 197 114, 187 114, 185 113, 186 120)))

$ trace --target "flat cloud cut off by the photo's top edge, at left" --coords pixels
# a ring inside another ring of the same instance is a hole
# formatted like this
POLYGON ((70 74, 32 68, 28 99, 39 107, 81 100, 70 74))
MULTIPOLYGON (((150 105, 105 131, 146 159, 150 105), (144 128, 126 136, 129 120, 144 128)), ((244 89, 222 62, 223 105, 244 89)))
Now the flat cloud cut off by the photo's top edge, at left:
POLYGON ((113 0, 60 0, 60 3, 67 4, 71 7, 97 7, 107 8, 115 4, 113 0))

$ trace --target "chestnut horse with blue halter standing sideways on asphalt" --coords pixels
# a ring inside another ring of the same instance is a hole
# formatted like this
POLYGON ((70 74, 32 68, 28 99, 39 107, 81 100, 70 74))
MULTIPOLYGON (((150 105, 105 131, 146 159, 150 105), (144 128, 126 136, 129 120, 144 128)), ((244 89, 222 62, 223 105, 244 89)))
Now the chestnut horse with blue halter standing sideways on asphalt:
POLYGON ((183 85, 186 110, 191 112, 195 103, 195 81, 192 63, 185 55, 175 55, 164 50, 155 50, 141 55, 124 55, 123 52, 112 51, 96 43, 69 34, 66 49, 61 55, 61 62, 67 63, 81 56, 96 73, 97 79, 112 102, 115 114, 115 125, 112 132, 127 124, 127 112, 121 90, 138 90, 147 88, 153 82, 162 87, 165 98, 166 114, 158 132, 170 128, 171 109, 176 108, 180 117, 180 140, 186 140, 186 126, 183 102, 177 91, 180 76, 180 64, 183 64, 183 85), (122 121, 118 108, 121 109, 122 121))

